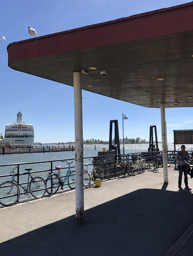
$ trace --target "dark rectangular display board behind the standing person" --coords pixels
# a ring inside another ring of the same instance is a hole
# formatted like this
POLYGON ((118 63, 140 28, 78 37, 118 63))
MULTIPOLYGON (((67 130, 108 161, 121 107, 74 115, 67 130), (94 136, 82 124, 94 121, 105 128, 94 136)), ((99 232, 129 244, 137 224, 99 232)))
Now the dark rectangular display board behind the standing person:
POLYGON ((175 144, 193 144, 193 130, 174 130, 175 144))

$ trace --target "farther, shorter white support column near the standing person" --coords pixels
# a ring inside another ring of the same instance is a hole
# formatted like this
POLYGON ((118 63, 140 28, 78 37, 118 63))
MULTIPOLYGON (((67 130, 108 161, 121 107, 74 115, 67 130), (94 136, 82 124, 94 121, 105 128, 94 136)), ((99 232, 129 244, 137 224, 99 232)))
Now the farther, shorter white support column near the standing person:
POLYGON ((161 107, 161 123, 162 123, 162 153, 163 153, 164 183, 168 183, 168 156, 167 156, 165 104, 161 103, 160 107, 161 107))

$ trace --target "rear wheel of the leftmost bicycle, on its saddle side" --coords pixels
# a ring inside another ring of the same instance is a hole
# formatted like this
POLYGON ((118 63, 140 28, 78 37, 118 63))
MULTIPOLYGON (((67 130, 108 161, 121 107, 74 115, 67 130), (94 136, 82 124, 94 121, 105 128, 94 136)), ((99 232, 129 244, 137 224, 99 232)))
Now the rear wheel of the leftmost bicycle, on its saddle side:
POLYGON ((46 192, 46 183, 42 177, 32 177, 29 182, 29 192, 35 198, 41 198, 46 192))

